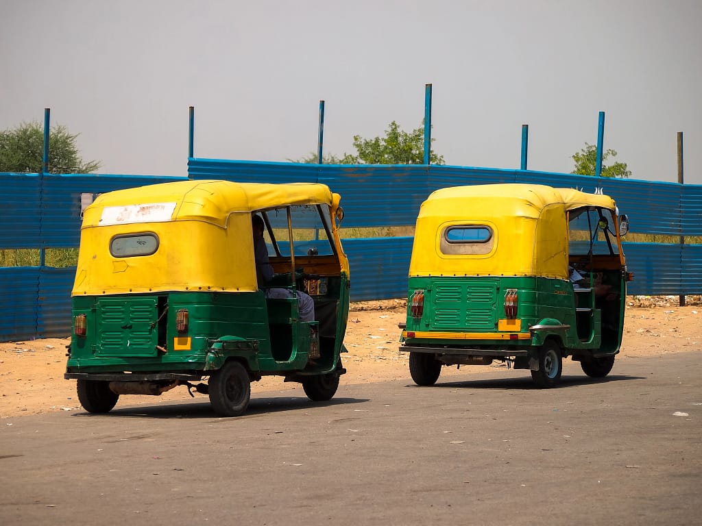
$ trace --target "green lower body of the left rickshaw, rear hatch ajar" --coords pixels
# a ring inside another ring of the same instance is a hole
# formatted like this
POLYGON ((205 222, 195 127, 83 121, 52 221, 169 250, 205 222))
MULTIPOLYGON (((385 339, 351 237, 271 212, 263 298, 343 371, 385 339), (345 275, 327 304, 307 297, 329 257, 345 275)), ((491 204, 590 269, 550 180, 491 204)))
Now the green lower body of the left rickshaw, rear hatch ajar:
POLYGON ((266 299, 261 291, 163 292, 74 297, 72 316, 86 315, 87 334, 73 333, 67 372, 208 375, 231 357, 258 374, 331 371, 344 351, 349 302, 347 277, 339 281, 335 297, 325 300, 330 323, 314 363, 309 353, 319 322, 298 321, 296 299, 266 299), (180 309, 188 311, 184 334, 176 332, 180 309), (179 350, 176 338, 190 338, 189 349, 179 350))

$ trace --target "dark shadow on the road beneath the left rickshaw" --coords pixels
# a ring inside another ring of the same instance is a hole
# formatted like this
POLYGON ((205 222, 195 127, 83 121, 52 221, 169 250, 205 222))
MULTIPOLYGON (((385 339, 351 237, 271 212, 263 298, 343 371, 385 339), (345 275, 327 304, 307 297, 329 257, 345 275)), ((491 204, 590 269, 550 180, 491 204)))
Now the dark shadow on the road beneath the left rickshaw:
POLYGON ((333 405, 364 403, 363 398, 332 398, 326 402, 313 402, 306 396, 267 396, 251 398, 249 407, 240 417, 222 417, 212 409, 209 400, 199 399, 188 402, 161 403, 159 405, 139 405, 138 407, 117 407, 109 413, 92 414, 76 412, 74 417, 90 418, 254 418, 265 414, 312 409, 314 407, 331 407, 333 405))

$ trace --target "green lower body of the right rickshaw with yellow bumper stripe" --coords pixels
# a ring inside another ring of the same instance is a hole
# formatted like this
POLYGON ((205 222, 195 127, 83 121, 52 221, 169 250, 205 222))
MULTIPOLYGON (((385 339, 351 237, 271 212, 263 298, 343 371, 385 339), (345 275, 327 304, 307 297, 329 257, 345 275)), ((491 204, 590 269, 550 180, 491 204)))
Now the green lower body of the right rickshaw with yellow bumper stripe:
MULTIPOLYGON (((623 286, 624 284, 622 284, 623 286)), ((529 355, 548 337, 556 338, 564 355, 584 351, 593 356, 616 353, 621 343, 623 302, 619 306, 616 341, 602 344, 600 310, 592 291, 576 294, 569 281, 538 276, 415 276, 409 278, 407 332, 421 337, 407 337, 408 346, 450 346, 453 349, 505 351, 527 349, 529 355), (411 297, 424 291, 422 316, 411 313, 411 297), (505 292, 517 290, 519 333, 529 339, 496 339, 496 334, 514 333, 499 330, 505 315, 505 292), (577 297, 576 297, 577 296, 577 297), (537 330, 531 331, 531 327, 537 330), (432 338, 431 332, 470 333, 467 339, 432 338), (486 335, 481 339, 480 334, 486 335), (602 347, 602 349, 600 349, 602 347)))

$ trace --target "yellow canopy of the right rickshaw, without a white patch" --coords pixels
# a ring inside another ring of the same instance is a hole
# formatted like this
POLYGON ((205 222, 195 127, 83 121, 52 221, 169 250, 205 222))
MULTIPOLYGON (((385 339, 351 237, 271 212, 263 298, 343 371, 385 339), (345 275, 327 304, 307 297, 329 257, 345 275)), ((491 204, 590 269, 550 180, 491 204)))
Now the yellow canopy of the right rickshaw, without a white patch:
POLYGON ((417 217, 409 275, 567 279, 567 212, 589 206, 616 210, 609 196, 542 184, 437 190, 422 203, 417 217), (458 225, 485 227, 491 239, 470 254, 446 253, 444 231, 458 225))

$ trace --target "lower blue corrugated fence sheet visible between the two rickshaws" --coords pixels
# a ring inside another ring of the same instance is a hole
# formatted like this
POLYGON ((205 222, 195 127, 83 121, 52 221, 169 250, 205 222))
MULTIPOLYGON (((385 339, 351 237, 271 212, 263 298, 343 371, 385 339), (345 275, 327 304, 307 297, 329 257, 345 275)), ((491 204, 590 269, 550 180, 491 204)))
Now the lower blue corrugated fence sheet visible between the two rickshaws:
POLYGON ((413 238, 344 239, 351 300, 406 297, 413 238))

